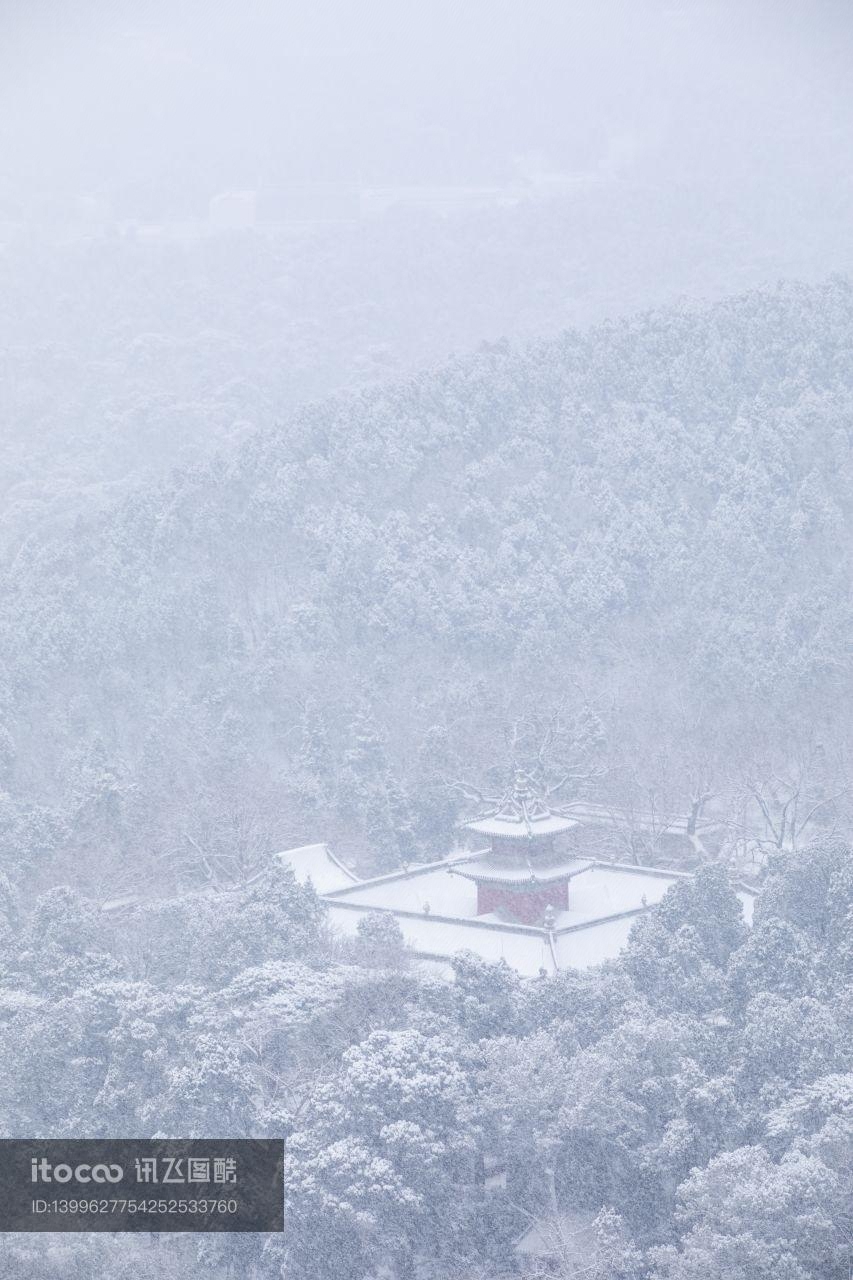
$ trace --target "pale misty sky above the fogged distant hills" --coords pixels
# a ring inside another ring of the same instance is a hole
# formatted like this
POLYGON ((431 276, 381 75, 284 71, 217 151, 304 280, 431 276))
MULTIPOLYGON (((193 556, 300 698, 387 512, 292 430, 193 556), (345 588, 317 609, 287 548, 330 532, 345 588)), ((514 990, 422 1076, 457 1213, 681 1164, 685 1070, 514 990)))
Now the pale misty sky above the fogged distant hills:
POLYGON ((6 202, 269 180, 605 169, 831 188, 853 157, 840 3, 5 0, 6 202))

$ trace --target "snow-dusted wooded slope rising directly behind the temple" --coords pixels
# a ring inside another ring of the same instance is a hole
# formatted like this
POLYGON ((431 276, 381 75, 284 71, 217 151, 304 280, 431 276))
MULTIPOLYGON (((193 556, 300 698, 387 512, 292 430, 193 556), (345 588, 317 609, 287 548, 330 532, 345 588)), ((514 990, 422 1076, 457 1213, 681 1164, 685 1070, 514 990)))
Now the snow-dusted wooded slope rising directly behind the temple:
POLYGON ((3 867, 109 896, 286 842, 441 855, 447 781, 548 719, 625 814, 844 826, 852 347, 840 279, 498 342, 40 525, 3 573, 3 867))

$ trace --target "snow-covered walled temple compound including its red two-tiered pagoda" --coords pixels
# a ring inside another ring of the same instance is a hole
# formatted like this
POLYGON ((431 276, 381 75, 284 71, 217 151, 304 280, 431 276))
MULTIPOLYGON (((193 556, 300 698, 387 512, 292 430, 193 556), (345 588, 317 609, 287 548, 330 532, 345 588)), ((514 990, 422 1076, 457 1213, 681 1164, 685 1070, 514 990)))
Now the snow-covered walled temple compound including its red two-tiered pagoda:
MULTIPOLYGON (((553 808, 524 773, 460 831, 480 847, 388 876, 359 879, 325 845, 279 854, 298 881, 311 881, 329 923, 355 933, 370 911, 389 911, 425 960, 461 950, 503 959, 535 977, 619 955, 635 919, 685 872, 594 856, 605 810, 553 808), (592 852, 584 852, 584 850, 592 852)), ((754 892, 740 887, 749 919, 754 892)))

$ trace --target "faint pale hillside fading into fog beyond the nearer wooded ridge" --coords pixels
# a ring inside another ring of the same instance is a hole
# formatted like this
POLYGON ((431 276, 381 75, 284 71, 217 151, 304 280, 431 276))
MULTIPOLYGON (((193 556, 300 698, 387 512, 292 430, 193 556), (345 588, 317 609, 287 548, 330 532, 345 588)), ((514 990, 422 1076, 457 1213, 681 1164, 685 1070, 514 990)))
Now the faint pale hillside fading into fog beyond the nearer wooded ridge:
POLYGON ((32 227, 0 207, 0 556, 306 401, 484 339, 853 270, 843 175, 824 191, 803 173, 797 201, 766 178, 725 195, 701 169, 678 188, 590 172, 447 216, 219 234, 76 220, 70 197, 32 227))

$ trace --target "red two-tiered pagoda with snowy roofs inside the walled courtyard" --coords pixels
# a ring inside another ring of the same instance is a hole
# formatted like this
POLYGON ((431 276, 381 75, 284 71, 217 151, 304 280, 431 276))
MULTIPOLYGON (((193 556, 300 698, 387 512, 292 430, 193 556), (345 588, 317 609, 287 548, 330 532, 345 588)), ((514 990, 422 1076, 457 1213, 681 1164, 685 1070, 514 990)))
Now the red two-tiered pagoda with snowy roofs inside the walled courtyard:
POLYGON ((588 870, 592 859, 558 849, 558 837, 580 823, 549 808, 529 774, 516 771, 512 786, 487 810, 461 823, 462 831, 487 836, 488 850, 453 868, 476 884, 476 914, 497 915, 549 928, 569 910, 569 882, 588 870))

